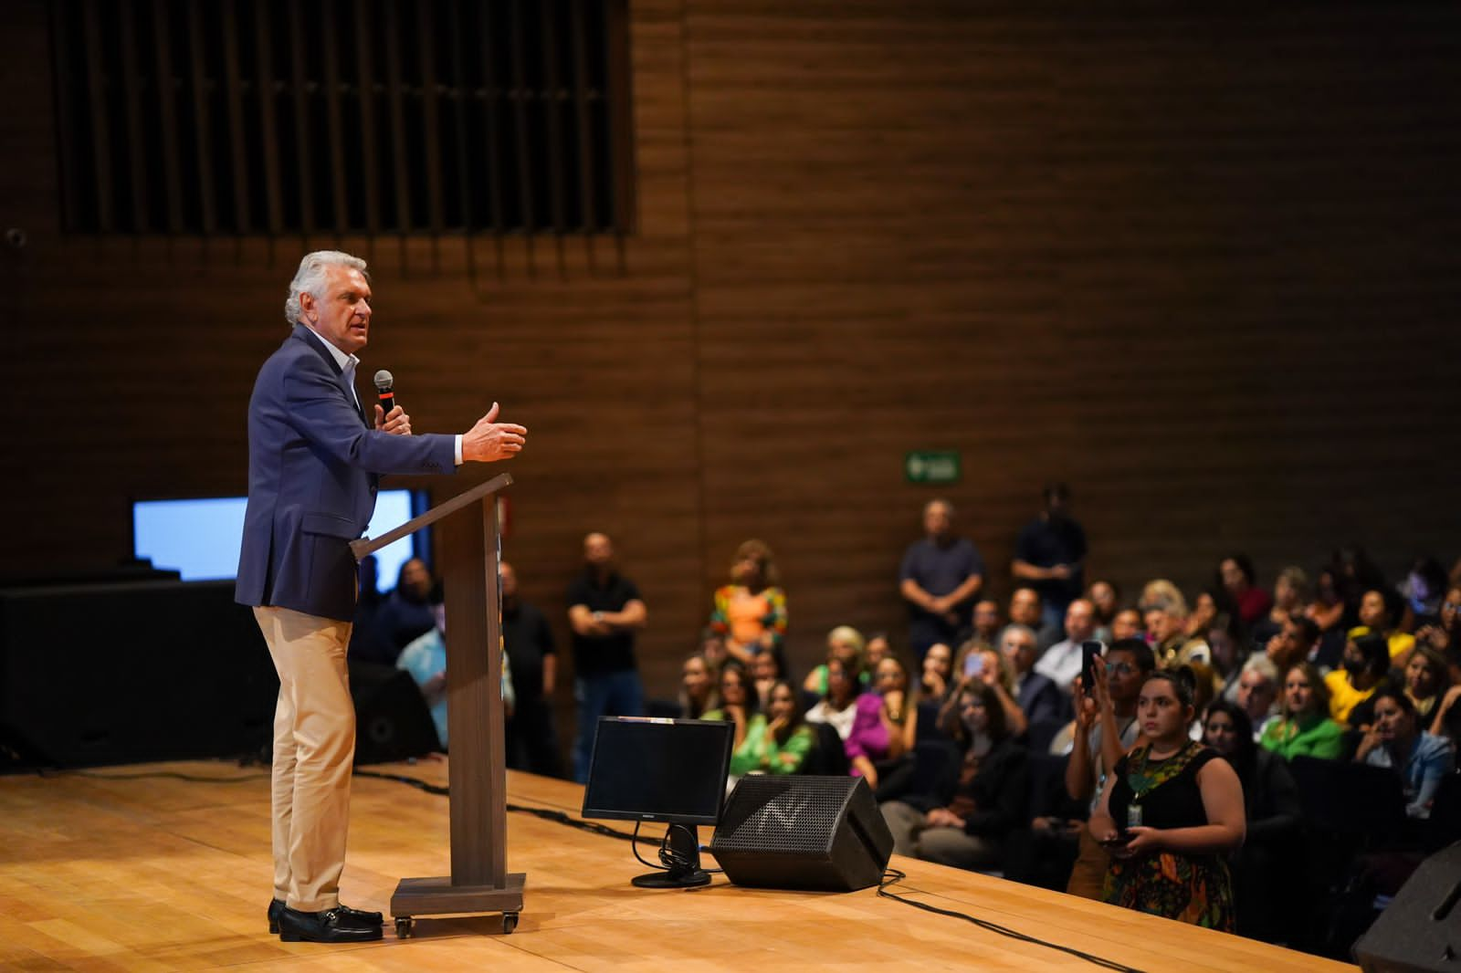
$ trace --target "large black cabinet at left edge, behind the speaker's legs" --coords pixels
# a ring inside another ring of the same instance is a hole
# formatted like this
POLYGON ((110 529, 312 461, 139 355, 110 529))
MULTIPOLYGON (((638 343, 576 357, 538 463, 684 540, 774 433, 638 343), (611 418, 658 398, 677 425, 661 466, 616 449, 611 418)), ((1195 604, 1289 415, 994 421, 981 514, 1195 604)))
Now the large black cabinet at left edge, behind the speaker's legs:
POLYGON ((0 590, 0 770, 257 757, 278 695, 232 581, 0 590))

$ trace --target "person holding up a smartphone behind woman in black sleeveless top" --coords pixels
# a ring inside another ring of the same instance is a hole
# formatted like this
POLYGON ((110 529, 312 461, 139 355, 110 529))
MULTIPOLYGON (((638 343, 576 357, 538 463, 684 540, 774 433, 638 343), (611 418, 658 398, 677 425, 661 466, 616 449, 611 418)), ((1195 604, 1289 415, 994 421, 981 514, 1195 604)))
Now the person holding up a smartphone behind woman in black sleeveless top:
MULTIPOLYGON (((1156 668, 1151 647, 1138 638, 1112 643, 1105 662, 1096 666, 1094 685, 1090 690, 1083 685, 1075 692, 1075 736, 1071 760, 1065 764, 1065 792, 1091 808, 1116 760, 1141 736, 1137 695, 1156 668)), ((1105 875, 1106 852, 1090 828, 1083 828, 1065 891, 1100 898, 1105 875)))

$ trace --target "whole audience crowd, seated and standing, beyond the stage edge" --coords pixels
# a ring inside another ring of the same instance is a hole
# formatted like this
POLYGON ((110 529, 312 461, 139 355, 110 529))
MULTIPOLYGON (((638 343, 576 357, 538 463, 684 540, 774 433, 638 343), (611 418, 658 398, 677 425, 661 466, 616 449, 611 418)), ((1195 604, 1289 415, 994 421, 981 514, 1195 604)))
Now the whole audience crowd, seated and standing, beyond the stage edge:
MULTIPOLYGON (((1391 583, 1347 546, 1265 587, 1230 552, 1199 590, 1153 579, 1126 599, 1086 583, 1086 535, 1052 485, 996 598, 951 504, 931 501, 923 527, 897 579, 906 633, 837 625, 804 672, 773 551, 742 543, 665 701, 634 657, 646 603, 589 535, 567 592, 573 776, 599 716, 726 720, 732 779, 862 777, 899 853, 1316 951, 1302 931, 1334 925, 1335 896, 1382 903, 1461 837, 1461 562, 1391 583)), ((516 589, 507 568, 508 761, 557 774, 555 647, 516 589)), ((437 672, 402 655, 431 631, 430 590, 412 562, 362 598, 352 659, 409 669, 441 719, 437 672)))

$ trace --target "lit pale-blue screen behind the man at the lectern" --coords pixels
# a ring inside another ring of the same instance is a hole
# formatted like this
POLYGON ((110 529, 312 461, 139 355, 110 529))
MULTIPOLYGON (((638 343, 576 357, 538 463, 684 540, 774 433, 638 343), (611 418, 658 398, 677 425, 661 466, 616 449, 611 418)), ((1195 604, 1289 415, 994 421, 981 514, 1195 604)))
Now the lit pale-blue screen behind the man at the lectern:
MULTIPOLYGON (((409 489, 383 489, 365 535, 378 538, 412 517, 409 489)), ((245 497, 139 500, 131 504, 133 555, 153 567, 177 570, 184 581, 228 580, 238 574, 245 497)), ((418 511, 425 510, 416 498, 418 511)), ((400 565, 413 555, 412 538, 375 552, 381 589, 394 587, 400 565)))

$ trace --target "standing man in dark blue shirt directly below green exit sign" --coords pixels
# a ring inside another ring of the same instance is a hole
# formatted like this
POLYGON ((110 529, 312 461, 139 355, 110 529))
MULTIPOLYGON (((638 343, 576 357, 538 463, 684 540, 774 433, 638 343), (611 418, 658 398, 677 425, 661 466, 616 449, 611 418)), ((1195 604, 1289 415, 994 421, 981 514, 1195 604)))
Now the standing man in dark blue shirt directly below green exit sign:
POLYGON ((899 571, 909 605, 909 647, 918 655, 935 643, 957 644, 969 627, 974 596, 985 584, 985 560, 966 538, 954 536, 954 505, 931 500, 923 505, 922 541, 909 545, 899 571))

